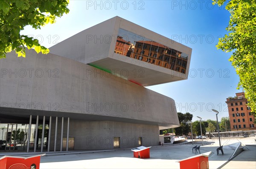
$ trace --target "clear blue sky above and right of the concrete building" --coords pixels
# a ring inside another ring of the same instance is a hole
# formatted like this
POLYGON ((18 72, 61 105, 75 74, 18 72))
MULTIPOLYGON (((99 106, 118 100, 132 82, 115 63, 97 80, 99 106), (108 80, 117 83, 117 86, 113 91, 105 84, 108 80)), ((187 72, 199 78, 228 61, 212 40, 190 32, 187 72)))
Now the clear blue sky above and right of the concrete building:
POLYGON ((192 113, 193 120, 219 121, 227 117, 226 98, 241 92, 239 76, 228 61, 231 53, 217 50, 218 38, 227 33, 230 14, 211 0, 70 0, 69 14, 41 30, 27 26, 29 34, 49 48, 55 43, 112 17, 119 16, 192 48, 187 80, 147 87, 171 97, 177 112, 192 113))

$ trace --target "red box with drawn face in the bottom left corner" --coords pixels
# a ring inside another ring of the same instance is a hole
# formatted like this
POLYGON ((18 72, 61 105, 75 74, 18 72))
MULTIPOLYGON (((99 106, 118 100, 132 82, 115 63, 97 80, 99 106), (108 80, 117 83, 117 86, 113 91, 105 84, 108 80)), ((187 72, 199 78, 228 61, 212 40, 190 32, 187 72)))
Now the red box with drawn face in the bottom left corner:
POLYGON ((0 169, 39 169, 40 157, 45 154, 31 157, 17 157, 5 155, 0 158, 0 169))

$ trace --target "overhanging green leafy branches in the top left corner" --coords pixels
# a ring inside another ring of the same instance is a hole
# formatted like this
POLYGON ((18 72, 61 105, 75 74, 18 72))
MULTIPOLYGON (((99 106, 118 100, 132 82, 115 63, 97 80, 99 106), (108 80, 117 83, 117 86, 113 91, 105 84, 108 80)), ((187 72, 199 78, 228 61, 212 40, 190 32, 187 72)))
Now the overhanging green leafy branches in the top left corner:
POLYGON ((49 53, 37 39, 20 35, 20 31, 26 25, 41 29, 41 26, 55 23, 56 17, 69 12, 68 3, 69 0, 0 0, 0 59, 13 50, 18 57, 25 57, 25 45, 37 53, 49 53))

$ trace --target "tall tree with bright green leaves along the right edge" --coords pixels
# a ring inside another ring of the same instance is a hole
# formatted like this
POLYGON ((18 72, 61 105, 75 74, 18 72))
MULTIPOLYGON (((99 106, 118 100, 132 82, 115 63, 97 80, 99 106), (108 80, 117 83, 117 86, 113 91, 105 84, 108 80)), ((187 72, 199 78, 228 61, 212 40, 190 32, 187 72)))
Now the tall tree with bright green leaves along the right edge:
POLYGON ((213 0, 230 12, 229 34, 219 39, 218 49, 233 52, 230 62, 240 77, 248 105, 256 112, 256 0, 213 0))

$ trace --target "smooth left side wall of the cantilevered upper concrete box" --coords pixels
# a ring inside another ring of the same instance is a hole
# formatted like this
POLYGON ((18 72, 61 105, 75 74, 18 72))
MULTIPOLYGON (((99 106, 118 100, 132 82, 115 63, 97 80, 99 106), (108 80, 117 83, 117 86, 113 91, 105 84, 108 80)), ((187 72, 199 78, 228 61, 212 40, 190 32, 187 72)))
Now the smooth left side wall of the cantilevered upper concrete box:
MULTIPOLYGON (((64 56, 82 63, 90 63, 108 57, 116 18, 87 28, 49 48, 52 54, 64 56)), ((113 40, 114 42, 114 40, 113 40)))

